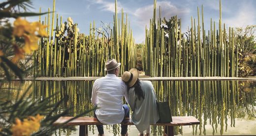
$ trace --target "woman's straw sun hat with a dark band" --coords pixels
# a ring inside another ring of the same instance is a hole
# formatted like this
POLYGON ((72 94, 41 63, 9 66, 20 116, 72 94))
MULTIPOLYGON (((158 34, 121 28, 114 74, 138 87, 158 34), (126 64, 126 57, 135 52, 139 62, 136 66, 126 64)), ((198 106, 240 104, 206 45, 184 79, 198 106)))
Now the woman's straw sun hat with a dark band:
POLYGON ((125 71, 122 75, 122 80, 132 87, 137 81, 139 72, 136 68, 131 68, 129 71, 125 71))

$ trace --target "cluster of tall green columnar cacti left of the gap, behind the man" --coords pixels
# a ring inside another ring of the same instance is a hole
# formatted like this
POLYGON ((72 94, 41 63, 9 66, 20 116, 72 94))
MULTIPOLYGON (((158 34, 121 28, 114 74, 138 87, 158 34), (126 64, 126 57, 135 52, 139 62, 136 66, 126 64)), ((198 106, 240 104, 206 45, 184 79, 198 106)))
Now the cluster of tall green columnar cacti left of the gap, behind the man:
POLYGON ((136 66, 136 47, 128 16, 126 14, 125 18, 122 9, 122 18, 118 19, 117 1, 114 25, 108 32, 109 37, 104 32, 96 31, 95 22, 90 25, 89 35, 81 34, 71 17, 63 23, 62 17, 59 21, 58 14, 54 27, 55 0, 53 3, 53 12, 50 13, 48 9, 48 18, 45 17, 45 21, 41 22, 39 17, 42 24, 48 25, 47 33, 51 35, 41 38, 40 49, 34 53, 34 76, 104 76, 104 62, 111 58, 121 63, 121 74, 136 66))

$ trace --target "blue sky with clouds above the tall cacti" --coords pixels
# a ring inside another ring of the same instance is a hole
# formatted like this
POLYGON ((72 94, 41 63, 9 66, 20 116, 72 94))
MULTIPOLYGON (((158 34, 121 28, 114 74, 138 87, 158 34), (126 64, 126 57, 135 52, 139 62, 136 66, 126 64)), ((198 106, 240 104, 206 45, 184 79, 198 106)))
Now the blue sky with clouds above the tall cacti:
MULTIPOLYGON (((52 9, 53 0, 32 0, 32 11, 48 11, 52 9)), ((96 28, 101 22, 113 23, 115 0, 56 0, 56 13, 63 16, 66 21, 71 17, 81 33, 88 34, 90 23, 95 21, 96 28)), ((136 43, 144 41, 145 27, 153 17, 154 0, 118 0, 118 15, 121 17, 121 8, 128 13, 128 20, 133 31, 136 43)), ((191 26, 191 16, 197 18, 197 6, 204 6, 204 24, 206 30, 210 28, 210 18, 219 22, 219 0, 158 0, 157 9, 161 7, 161 16, 167 19, 178 15, 182 19, 182 32, 191 26)), ((222 19, 227 27, 245 27, 256 25, 256 0, 222 0, 222 19)), ((30 21, 38 17, 28 18, 30 21)))

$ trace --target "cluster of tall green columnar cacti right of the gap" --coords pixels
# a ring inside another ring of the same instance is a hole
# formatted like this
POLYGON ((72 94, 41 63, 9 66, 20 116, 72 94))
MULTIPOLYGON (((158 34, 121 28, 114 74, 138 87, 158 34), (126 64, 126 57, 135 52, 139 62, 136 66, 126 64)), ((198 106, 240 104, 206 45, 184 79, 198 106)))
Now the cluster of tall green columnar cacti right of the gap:
MULTIPOLYGON (((142 66, 145 74, 150 76, 238 76, 238 51, 234 44, 233 29, 228 33, 222 27, 220 0, 219 30, 211 20, 211 30, 205 31, 203 6, 201 19, 197 7, 196 20, 191 18, 191 29, 187 34, 181 33, 181 20, 177 16, 170 22, 161 17, 156 23, 156 0, 154 17, 146 27, 145 45, 142 46, 142 66), (168 25, 168 31, 162 27, 168 25)), ((159 11, 160 12, 160 11, 159 11)))

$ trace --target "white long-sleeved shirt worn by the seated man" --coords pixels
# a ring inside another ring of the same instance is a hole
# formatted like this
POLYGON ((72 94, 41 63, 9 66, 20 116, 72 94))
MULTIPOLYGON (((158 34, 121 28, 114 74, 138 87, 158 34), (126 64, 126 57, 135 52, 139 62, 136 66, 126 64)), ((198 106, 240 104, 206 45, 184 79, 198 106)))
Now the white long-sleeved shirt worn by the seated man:
POLYGON ((99 122, 110 125, 123 121, 123 97, 128 103, 127 85, 115 74, 107 74, 94 82, 91 101, 98 107, 95 114, 99 122))

